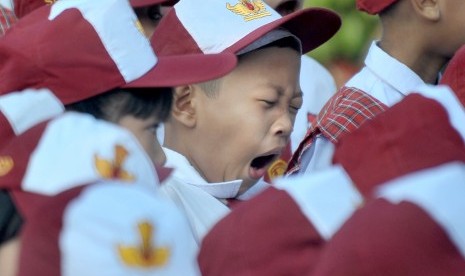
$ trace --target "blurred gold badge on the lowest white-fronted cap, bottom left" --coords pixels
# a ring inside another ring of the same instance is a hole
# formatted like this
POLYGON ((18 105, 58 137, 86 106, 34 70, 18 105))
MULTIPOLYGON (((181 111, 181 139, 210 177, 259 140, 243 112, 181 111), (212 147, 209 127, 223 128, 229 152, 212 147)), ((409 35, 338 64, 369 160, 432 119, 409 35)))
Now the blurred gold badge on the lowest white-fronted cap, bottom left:
POLYGON ((139 223, 141 243, 136 246, 118 246, 119 255, 127 266, 139 268, 161 267, 168 263, 170 250, 156 247, 153 243, 153 226, 149 222, 139 223))

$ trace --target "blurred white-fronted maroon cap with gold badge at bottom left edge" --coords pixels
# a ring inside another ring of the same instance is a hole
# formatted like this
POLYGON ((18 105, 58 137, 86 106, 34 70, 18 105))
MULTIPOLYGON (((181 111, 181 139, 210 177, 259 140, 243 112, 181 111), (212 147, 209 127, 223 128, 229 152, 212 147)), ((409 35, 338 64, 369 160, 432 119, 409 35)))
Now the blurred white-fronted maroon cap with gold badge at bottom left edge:
POLYGON ((34 214, 22 229, 18 275, 199 275, 185 217, 142 183, 76 187, 34 214))

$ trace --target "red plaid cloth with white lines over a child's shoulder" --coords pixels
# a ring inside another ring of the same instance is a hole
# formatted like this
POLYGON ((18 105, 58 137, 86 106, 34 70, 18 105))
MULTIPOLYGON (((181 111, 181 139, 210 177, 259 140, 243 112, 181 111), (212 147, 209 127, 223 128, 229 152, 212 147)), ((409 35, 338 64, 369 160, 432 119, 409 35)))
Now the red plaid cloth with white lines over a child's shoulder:
POLYGON ((312 146, 318 135, 337 143, 341 135, 350 133, 366 120, 374 118, 388 107, 376 98, 354 87, 342 87, 323 107, 316 123, 309 129, 304 140, 295 151, 287 175, 300 170, 303 154, 312 146))

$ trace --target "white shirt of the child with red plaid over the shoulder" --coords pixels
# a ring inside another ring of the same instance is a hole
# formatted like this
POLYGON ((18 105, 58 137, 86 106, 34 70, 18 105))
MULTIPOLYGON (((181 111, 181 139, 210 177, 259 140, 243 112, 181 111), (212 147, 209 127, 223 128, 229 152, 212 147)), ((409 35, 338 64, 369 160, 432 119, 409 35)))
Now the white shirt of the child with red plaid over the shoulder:
MULTIPOLYGON (((373 96, 387 106, 393 106, 425 82, 412 69, 391 57, 374 41, 365 58, 365 67, 345 85, 373 96)), ((323 135, 303 154, 298 174, 318 171, 331 166, 334 145, 323 135)))

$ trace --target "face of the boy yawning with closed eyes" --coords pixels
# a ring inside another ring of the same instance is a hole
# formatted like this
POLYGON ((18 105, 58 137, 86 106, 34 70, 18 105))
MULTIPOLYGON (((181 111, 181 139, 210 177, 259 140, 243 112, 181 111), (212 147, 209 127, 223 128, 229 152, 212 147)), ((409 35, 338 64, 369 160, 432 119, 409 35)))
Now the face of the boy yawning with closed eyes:
POLYGON ((223 77, 216 96, 199 93, 190 161, 209 182, 242 179, 244 191, 263 177, 286 146, 302 105, 299 72, 297 51, 265 48, 223 77))

